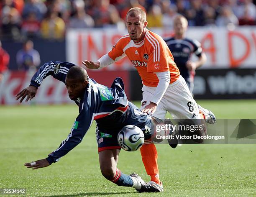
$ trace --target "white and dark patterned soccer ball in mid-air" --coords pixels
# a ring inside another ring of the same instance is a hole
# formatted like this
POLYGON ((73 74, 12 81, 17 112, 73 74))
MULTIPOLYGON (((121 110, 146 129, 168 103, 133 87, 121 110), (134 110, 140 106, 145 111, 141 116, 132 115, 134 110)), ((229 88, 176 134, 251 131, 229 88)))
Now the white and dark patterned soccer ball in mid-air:
POLYGON ((135 125, 127 125, 118 133, 118 144, 125 151, 137 151, 144 143, 144 134, 135 125))

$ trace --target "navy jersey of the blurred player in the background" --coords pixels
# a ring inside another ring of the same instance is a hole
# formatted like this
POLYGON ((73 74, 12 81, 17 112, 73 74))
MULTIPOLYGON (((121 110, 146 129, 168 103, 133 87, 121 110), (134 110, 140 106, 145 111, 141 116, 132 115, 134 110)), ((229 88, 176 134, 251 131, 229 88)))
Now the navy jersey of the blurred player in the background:
POLYGON ((201 44, 196 40, 188 38, 177 40, 174 37, 166 39, 165 42, 172 52, 174 62, 177 64, 180 74, 186 81, 188 81, 190 73, 186 67, 186 62, 190 59, 190 56, 193 53, 198 57, 202 55, 201 44))

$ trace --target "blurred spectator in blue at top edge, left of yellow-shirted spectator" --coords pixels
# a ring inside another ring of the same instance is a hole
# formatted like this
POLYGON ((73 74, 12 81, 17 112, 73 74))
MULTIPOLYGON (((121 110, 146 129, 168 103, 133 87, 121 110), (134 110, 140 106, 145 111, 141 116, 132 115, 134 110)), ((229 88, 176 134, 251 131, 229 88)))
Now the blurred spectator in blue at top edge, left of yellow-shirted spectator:
POLYGON ((29 13, 36 13, 36 19, 41 21, 46 12, 46 5, 40 0, 27 0, 23 8, 22 17, 28 18, 29 13))

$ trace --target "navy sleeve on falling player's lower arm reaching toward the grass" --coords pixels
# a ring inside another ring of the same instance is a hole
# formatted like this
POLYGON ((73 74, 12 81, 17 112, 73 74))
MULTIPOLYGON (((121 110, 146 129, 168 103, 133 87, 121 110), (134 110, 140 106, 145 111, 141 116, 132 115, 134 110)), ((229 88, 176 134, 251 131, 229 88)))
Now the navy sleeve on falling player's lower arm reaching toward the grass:
POLYGON ((59 148, 48 155, 47 161, 49 164, 59 161, 59 159, 76 147, 83 139, 85 133, 92 125, 94 120, 95 105, 89 106, 87 102, 82 103, 82 110, 77 116, 71 132, 67 136, 67 139, 61 142, 59 148))

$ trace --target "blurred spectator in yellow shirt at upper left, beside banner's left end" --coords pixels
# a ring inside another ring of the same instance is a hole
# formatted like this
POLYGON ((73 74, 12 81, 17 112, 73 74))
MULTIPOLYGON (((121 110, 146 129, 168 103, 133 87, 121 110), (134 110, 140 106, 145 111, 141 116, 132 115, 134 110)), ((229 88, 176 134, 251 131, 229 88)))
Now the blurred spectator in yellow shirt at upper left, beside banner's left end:
POLYGON ((41 35, 46 39, 63 39, 65 33, 65 23, 58 13, 49 10, 47 17, 41 23, 41 35))

